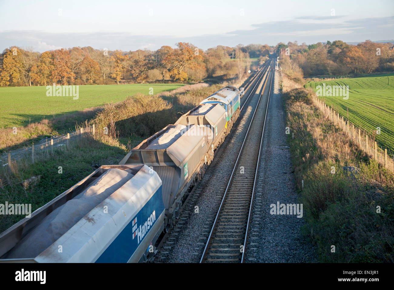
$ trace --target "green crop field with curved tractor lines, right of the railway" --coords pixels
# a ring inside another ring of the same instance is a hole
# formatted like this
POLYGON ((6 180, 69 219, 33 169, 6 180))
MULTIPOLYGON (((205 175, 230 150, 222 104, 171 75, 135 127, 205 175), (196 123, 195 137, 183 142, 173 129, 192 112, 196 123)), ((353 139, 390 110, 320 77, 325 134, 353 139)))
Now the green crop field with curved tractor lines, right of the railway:
POLYGON ((387 148, 390 155, 394 153, 394 74, 354 79, 337 79, 330 81, 308 82, 306 88, 316 86, 349 86, 349 99, 342 96, 324 96, 325 103, 347 117, 356 126, 373 133, 376 127, 381 134, 376 135, 379 147, 387 148))

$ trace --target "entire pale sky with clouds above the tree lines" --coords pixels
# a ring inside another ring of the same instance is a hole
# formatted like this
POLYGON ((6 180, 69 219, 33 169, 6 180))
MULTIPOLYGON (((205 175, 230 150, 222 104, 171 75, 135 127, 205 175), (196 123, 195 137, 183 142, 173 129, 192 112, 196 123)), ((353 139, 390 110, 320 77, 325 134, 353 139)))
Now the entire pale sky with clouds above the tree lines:
POLYGON ((0 51, 394 39, 394 1, 0 0, 0 51))

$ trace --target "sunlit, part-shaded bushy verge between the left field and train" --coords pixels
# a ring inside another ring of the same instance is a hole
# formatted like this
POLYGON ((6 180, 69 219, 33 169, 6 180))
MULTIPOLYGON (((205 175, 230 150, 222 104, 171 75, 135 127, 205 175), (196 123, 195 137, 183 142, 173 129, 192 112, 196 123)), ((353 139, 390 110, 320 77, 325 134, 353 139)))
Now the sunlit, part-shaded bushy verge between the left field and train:
POLYGON ((182 114, 226 85, 227 82, 213 84, 169 95, 136 94, 120 103, 106 105, 91 122, 97 125, 100 134, 107 127, 113 138, 121 138, 124 144, 130 140, 128 143, 136 145, 137 140, 148 138, 168 124, 175 123, 182 114))

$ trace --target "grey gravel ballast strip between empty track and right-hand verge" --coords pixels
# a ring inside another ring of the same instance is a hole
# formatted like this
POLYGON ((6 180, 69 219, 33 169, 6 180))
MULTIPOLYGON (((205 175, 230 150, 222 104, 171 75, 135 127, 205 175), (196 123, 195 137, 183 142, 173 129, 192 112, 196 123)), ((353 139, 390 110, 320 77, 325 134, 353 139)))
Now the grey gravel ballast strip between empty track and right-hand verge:
MULTIPOLYGON (((316 262, 316 251, 301 234, 303 217, 271 214, 271 204, 299 203, 287 144, 286 116, 275 71, 262 155, 256 181, 247 262, 316 262)), ((305 209, 303 209, 305 210, 305 209)))

